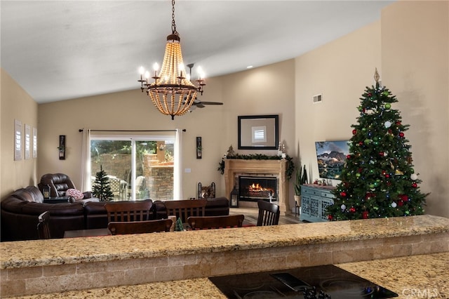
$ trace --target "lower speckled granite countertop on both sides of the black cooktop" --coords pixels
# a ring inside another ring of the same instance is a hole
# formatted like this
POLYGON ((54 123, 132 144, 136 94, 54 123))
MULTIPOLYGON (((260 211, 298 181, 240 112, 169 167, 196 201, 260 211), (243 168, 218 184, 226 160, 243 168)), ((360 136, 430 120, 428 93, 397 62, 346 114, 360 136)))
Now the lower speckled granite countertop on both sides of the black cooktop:
MULTIPOLYGON (((338 265, 398 293, 398 298, 449 298, 449 253, 338 265)), ((15 298, 226 298, 207 278, 114 286, 15 298)))

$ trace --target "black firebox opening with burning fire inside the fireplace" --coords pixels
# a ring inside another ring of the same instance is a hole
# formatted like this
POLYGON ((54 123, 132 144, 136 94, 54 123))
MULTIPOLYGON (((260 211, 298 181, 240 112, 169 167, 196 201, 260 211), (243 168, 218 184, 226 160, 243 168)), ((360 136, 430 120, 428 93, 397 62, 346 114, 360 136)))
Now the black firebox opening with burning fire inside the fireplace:
POLYGON ((277 179, 273 177, 239 176, 239 201, 277 200, 277 179))

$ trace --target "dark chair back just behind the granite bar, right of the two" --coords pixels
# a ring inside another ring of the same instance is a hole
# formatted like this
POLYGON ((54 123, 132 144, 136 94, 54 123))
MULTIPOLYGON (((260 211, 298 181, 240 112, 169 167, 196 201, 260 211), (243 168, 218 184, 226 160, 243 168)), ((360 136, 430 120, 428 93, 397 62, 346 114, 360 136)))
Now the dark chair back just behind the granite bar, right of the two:
POLYGON ((192 230, 209 230, 215 228, 242 227, 245 215, 225 215, 225 216, 191 216, 187 218, 187 223, 192 230))

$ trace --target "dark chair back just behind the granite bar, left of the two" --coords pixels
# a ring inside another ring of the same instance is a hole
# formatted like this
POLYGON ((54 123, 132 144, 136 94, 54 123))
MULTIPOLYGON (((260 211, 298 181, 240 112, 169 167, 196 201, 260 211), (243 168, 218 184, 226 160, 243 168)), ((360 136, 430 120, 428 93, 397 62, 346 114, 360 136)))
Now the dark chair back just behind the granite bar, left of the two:
POLYGON ((132 221, 132 222, 109 222, 107 228, 111 234, 145 234, 148 232, 170 232, 173 224, 171 219, 132 221))

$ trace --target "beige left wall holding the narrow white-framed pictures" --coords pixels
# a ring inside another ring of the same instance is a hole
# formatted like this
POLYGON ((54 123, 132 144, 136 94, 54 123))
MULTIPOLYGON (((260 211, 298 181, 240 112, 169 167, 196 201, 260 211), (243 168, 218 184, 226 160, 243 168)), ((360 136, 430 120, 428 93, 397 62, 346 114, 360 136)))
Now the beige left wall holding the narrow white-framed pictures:
MULTIPOLYGON (((14 161, 14 120, 31 129, 37 128, 37 103, 1 69, 0 84, 1 137, 0 137, 0 197, 28 185, 36 185, 36 160, 25 160, 25 141, 22 139, 22 160, 14 161)), ((38 131, 39 144, 39 131, 38 131)))

